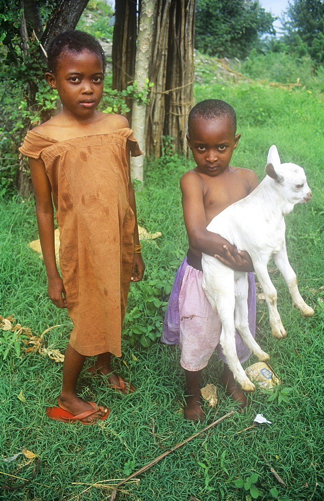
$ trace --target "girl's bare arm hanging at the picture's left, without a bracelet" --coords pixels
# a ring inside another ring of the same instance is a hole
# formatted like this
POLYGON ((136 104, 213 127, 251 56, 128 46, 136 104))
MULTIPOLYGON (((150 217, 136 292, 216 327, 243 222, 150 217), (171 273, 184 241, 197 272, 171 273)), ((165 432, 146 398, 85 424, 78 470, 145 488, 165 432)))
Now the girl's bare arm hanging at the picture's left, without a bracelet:
POLYGON ((38 231, 48 280, 48 295, 55 306, 67 308, 66 293, 55 259, 54 209, 50 181, 41 160, 29 158, 29 165, 35 192, 38 231))

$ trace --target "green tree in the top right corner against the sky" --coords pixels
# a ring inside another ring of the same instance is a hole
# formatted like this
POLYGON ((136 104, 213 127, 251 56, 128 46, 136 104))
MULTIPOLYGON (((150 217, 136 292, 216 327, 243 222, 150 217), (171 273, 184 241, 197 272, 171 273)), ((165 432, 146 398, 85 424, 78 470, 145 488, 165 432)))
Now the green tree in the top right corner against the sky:
POLYGON ((324 63, 324 2, 321 0, 294 0, 288 2, 284 28, 285 41, 290 46, 305 44, 309 56, 324 63))

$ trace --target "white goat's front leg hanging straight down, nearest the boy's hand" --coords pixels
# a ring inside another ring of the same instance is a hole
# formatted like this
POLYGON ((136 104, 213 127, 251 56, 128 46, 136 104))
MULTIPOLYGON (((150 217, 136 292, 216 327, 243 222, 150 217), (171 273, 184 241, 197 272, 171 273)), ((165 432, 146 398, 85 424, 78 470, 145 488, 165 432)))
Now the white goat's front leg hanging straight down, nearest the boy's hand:
POLYGON ((254 260, 253 266, 268 305, 272 336, 277 339, 285 338, 287 333, 282 325, 281 318, 277 310, 277 291, 270 280, 267 263, 254 260))

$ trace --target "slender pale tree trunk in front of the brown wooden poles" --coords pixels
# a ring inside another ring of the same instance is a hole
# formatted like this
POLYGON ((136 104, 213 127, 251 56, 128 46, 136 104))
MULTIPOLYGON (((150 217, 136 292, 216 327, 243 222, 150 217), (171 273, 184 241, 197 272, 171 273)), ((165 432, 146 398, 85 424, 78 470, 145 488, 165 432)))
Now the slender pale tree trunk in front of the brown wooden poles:
MULTIPOLYGON (((151 58, 153 34, 154 0, 142 0, 137 35, 135 81, 138 91, 145 88, 145 79, 148 78, 148 67, 151 58)), ((132 158, 131 176, 143 181, 143 159, 145 157, 145 112, 146 105, 134 101, 131 126, 136 131, 136 139, 141 145, 143 155, 132 158)))

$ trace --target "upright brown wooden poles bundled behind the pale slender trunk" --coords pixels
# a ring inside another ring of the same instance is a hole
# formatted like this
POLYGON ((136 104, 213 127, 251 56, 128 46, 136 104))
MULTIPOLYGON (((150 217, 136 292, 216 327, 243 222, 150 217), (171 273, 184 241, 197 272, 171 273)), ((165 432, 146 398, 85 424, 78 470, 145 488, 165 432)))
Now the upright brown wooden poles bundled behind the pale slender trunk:
MULTIPOLYGON (((122 5, 126 7, 129 1, 116 0, 116 9, 122 5)), ((172 136, 175 151, 188 155, 185 136, 188 113, 193 105, 195 0, 155 0, 154 5, 153 33, 148 41, 151 44, 148 78, 154 87, 145 110, 145 146, 142 142, 140 146, 146 155, 160 156, 163 136, 172 136)), ((144 1, 138 0, 138 6, 139 10, 143 8, 144 1)), ((129 80, 138 80, 134 72, 131 73, 133 53, 118 50, 122 40, 133 37, 133 26, 128 19, 122 29, 115 26, 114 30, 113 82, 118 90, 126 87, 120 73, 128 71, 129 80)), ((137 43, 138 47, 140 45, 137 43)), ((138 136, 137 125, 133 120, 131 123, 138 136)))

